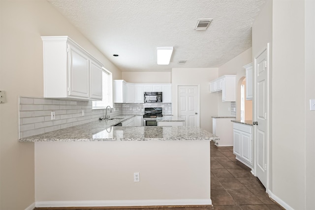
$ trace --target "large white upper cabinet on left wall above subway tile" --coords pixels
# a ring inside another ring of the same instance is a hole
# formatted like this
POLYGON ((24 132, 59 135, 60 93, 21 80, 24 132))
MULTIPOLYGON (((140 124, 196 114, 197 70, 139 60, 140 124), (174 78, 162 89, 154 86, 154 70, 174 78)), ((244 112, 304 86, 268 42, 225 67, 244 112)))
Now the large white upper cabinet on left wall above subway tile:
POLYGON ((67 36, 42 36, 44 97, 102 99, 102 64, 67 36))

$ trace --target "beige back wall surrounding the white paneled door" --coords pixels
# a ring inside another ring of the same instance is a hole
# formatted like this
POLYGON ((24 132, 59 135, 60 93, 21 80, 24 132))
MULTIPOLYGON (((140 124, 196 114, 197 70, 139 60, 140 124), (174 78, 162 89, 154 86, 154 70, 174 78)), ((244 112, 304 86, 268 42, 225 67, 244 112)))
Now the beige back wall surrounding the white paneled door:
POLYGON ((178 85, 200 85, 200 127, 212 132, 212 116, 218 116, 218 94, 210 93, 210 81, 218 78, 218 68, 173 68, 172 111, 177 116, 178 85))

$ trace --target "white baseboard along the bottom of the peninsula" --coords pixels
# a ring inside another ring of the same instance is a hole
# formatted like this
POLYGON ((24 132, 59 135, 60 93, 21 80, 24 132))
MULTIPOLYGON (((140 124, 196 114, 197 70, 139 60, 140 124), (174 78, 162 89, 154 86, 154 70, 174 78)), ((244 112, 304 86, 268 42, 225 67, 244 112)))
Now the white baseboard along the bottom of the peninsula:
MULTIPOLYGON (((35 207, 132 207, 132 206, 188 206, 212 205, 211 199, 178 200, 113 200, 113 201, 40 201, 35 207)), ((29 210, 29 209, 26 209, 29 210)), ((30 209, 31 210, 31 209, 30 209)))

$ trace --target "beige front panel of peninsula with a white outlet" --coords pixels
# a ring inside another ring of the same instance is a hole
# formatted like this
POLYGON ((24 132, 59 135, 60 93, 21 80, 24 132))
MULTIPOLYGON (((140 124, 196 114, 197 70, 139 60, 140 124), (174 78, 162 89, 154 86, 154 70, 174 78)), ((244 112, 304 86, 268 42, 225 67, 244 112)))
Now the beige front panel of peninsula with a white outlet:
POLYGON ((209 141, 38 142, 35 200, 209 201, 209 168, 209 141))

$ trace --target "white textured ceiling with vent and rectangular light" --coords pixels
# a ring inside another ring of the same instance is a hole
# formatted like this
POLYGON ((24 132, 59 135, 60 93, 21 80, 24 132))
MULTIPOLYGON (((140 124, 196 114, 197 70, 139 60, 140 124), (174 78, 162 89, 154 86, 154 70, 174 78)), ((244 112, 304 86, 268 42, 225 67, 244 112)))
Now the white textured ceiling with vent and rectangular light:
POLYGON ((252 23, 264 3, 264 0, 48 1, 122 71, 219 67, 252 46, 252 23), (194 30, 201 18, 213 21, 207 30, 194 30), (157 65, 158 46, 174 47, 169 65, 157 65), (179 60, 187 62, 178 64, 179 60))

